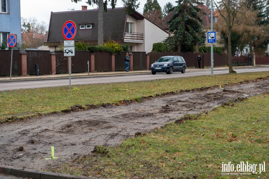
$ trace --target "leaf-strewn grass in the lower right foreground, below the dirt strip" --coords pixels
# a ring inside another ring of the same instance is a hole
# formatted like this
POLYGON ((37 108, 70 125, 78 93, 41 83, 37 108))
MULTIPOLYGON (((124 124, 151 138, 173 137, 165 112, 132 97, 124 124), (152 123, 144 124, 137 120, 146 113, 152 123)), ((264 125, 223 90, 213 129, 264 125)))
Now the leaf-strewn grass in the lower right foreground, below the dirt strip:
POLYGON ((104 178, 269 177, 269 92, 179 121, 124 140, 120 146, 95 146, 91 156, 50 171, 104 178), (231 162, 235 169, 240 162, 258 164, 256 172, 265 162, 266 172, 221 175, 236 173, 222 172, 222 162, 231 162))

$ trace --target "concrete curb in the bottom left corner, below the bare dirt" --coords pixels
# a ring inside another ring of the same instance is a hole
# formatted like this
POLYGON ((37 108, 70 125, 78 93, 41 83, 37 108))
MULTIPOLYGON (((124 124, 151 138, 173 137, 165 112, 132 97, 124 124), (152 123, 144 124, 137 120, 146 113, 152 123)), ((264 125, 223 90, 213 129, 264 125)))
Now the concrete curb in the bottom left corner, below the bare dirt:
POLYGON ((45 172, 34 169, 25 169, 15 166, 0 166, 0 173, 13 175, 23 178, 32 178, 32 179, 105 179, 105 178, 97 178, 97 177, 85 177, 85 176, 75 176, 75 175, 67 175, 55 172, 45 172))

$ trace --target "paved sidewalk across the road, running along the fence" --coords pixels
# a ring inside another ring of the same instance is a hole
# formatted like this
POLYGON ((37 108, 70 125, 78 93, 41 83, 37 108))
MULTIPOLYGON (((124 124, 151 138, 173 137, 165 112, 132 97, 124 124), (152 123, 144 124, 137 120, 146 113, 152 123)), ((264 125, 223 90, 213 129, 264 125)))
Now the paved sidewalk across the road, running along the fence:
MULTIPOLYGON (((233 69, 236 71, 236 69, 251 69, 251 68, 260 68, 260 67, 269 67, 269 65, 260 65, 260 66, 242 66, 242 67, 233 67, 233 69)), ((215 67, 214 71, 218 71, 218 70, 229 70, 229 67, 215 67)), ((187 68, 186 69, 186 73, 190 73, 190 72, 203 72, 203 71, 211 71, 211 68, 187 68)), ((126 74, 151 74, 151 71, 149 70, 136 70, 136 71, 115 71, 115 72, 94 72, 94 73, 73 73, 71 74, 71 78, 86 78, 86 77, 99 77, 99 76, 121 76, 121 75, 126 75, 126 74)), ((22 76, 12 76, 11 80, 29 80, 29 79, 40 79, 40 80, 44 80, 44 79, 54 79, 54 78, 69 78, 69 74, 56 74, 56 75, 39 75, 39 76, 35 76, 35 75, 27 75, 26 77, 22 77, 22 76)), ((4 82, 4 81, 10 81, 10 77, 0 77, 0 81, 4 82)))

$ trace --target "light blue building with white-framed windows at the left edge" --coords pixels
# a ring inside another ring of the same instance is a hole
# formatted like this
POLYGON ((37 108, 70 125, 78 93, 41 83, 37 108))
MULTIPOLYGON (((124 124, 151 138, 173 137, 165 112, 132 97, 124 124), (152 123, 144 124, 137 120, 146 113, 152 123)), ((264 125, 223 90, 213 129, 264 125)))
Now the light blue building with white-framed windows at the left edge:
POLYGON ((7 37, 10 33, 14 33, 17 36, 17 43, 21 44, 20 0, 0 0, 0 5, 0 42, 4 42, 8 48, 7 37))

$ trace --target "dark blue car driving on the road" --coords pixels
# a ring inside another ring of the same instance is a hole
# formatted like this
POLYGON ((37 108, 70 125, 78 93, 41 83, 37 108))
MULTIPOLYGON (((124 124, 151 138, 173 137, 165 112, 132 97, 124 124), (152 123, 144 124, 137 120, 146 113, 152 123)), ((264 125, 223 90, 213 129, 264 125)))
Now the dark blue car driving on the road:
POLYGON ((155 63, 151 64, 151 73, 153 75, 158 72, 172 74, 173 71, 181 71, 181 73, 185 73, 186 68, 186 62, 182 56, 163 56, 155 63))

